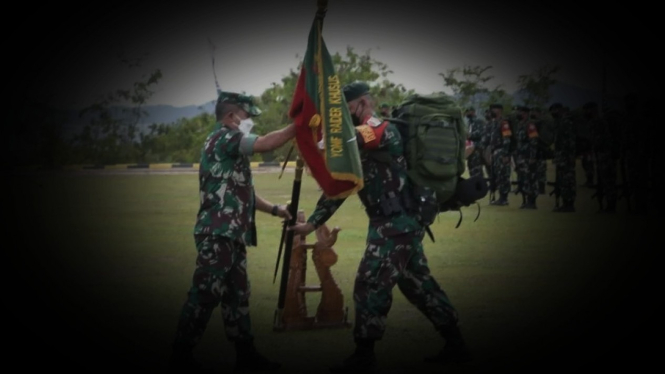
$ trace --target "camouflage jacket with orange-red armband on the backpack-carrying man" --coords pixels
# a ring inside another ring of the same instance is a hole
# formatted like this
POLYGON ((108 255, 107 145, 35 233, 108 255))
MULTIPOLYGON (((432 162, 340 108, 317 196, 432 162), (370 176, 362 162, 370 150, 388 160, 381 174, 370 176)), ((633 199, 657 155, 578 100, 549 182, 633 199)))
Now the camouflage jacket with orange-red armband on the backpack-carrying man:
MULTIPOLYGON (((370 118, 365 125, 357 126, 358 144, 361 150, 361 163, 363 168, 364 186, 358 191, 358 197, 366 210, 379 206, 387 196, 407 196, 409 180, 406 174, 406 159, 403 157, 404 146, 399 130, 394 124, 370 118), (376 129, 369 129, 369 127, 376 129), (380 129, 378 127, 381 126, 380 129), (376 137, 375 141, 365 142, 364 133, 371 131, 376 137), (373 131, 374 130, 374 131, 373 131), (378 161, 371 157, 371 152, 387 151, 393 164, 378 161)), ((314 212, 307 219, 315 227, 324 224, 346 199, 326 199, 322 195, 317 202, 314 212)), ((411 213, 402 212, 390 217, 370 216, 370 229, 375 230, 381 237, 390 237, 405 232, 422 230, 417 218, 411 213)))

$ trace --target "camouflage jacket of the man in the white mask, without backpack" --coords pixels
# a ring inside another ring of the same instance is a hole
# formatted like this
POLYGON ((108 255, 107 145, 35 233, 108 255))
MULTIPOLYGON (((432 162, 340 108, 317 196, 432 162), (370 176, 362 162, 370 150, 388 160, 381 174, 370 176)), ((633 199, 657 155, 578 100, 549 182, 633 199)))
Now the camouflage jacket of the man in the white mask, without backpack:
POLYGON ((201 149, 200 207, 194 234, 221 235, 256 245, 255 194, 250 157, 257 136, 217 123, 201 149))

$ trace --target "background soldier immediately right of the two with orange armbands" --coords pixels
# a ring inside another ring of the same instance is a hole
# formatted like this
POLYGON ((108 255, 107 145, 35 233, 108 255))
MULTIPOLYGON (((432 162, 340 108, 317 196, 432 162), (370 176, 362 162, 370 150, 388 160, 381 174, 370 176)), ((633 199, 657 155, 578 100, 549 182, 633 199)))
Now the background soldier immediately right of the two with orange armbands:
POLYGON ((561 103, 554 103, 549 108, 554 119, 554 166, 556 173, 555 191, 557 195, 557 206, 554 212, 575 212, 575 199, 577 187, 575 185, 575 163, 576 133, 573 121, 561 103), (563 205, 559 206, 559 197, 563 205))

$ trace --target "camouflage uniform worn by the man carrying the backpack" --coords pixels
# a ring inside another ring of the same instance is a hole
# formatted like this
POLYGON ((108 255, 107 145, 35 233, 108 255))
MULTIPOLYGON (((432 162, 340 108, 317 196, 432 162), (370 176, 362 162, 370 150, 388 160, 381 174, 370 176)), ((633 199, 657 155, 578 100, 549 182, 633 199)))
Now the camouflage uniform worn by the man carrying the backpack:
MULTIPOLYGON (((374 118, 369 123, 361 126, 376 127, 381 121, 374 118)), ((395 285, 438 331, 456 326, 457 312, 430 274, 423 251, 423 226, 409 209, 412 204, 408 195, 410 184, 399 131, 388 123, 375 148, 387 150, 395 161, 392 165, 372 158, 369 153, 372 151, 363 144, 361 135, 358 140, 364 175, 364 187, 358 191, 358 197, 369 216, 369 225, 367 245, 353 289, 356 342, 383 337, 395 285), (395 210, 391 211, 391 207, 395 210)), ((321 196, 307 222, 314 227, 324 224, 344 201, 321 196)))

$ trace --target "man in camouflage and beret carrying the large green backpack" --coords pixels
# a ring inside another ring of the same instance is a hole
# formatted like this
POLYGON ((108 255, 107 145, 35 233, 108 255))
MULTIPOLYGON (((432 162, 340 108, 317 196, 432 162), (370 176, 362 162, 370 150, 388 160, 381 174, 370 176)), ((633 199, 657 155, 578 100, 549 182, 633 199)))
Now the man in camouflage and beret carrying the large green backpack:
MULTIPOLYGON (((374 343, 386 329, 395 285, 445 339, 443 350, 426 358, 428 362, 456 362, 469 359, 457 326, 457 311, 444 290, 430 274, 423 251, 424 227, 413 206, 406 175, 403 143, 397 127, 372 116, 369 86, 354 82, 343 92, 358 132, 364 187, 358 191, 369 217, 367 246, 358 266, 353 288, 356 349, 333 372, 370 371, 376 368, 374 343), (371 152, 387 151, 393 163, 379 161, 371 152)), ((290 227, 297 235, 308 235, 324 224, 345 199, 321 196, 307 222, 290 227)))

